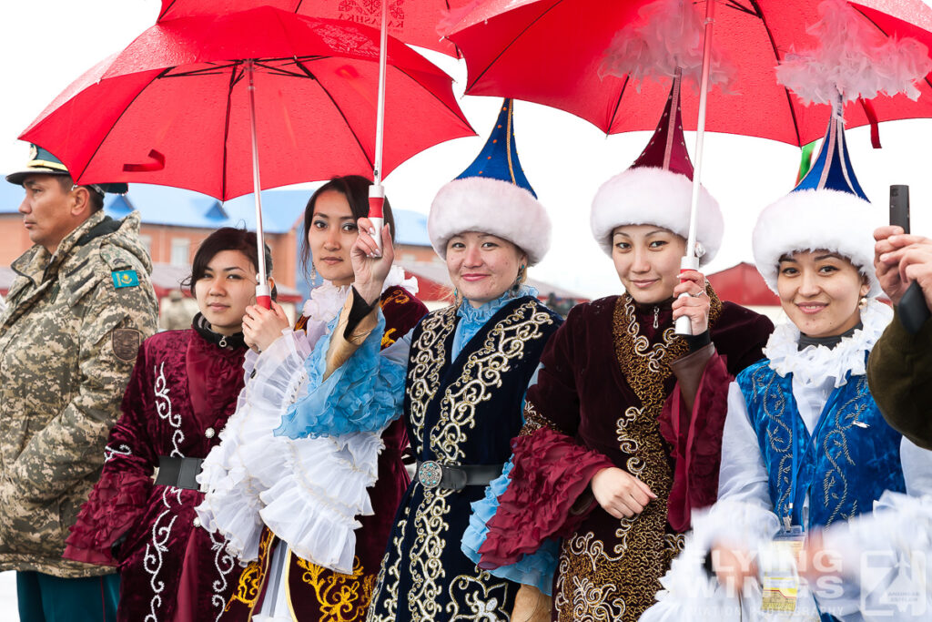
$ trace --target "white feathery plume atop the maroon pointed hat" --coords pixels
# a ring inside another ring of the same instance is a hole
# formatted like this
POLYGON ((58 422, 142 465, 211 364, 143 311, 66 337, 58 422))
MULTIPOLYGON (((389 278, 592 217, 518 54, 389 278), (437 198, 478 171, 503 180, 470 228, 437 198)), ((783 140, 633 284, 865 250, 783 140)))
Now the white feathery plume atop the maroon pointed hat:
MULTIPOLYGON (((615 34, 598 68, 599 78, 630 76, 637 92, 648 78, 673 77, 677 69, 696 85, 702 77, 705 15, 692 0, 657 0, 639 20, 615 34)), ((709 84, 725 85, 733 71, 713 47, 709 84)))

